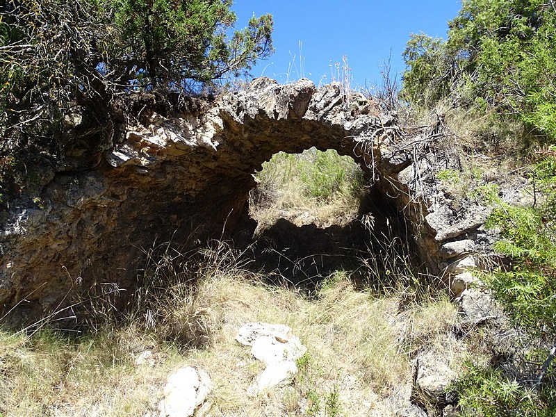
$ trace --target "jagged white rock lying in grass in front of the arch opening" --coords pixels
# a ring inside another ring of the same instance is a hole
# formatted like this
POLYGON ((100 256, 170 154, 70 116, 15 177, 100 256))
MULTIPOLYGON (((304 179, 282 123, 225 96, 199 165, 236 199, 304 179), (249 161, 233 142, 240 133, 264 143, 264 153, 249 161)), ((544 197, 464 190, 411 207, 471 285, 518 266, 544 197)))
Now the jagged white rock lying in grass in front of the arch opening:
POLYGON ((289 381, 297 373, 295 361, 307 350, 286 325, 249 323, 239 329, 236 340, 252 346, 251 354, 266 364, 263 372, 247 388, 250 395, 289 381))

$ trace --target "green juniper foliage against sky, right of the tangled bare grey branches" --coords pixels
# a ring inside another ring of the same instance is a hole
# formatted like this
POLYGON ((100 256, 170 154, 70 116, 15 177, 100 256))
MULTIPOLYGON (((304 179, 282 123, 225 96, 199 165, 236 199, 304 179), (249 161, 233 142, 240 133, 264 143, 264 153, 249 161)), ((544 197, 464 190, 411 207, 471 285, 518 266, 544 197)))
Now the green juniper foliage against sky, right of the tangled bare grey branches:
MULTIPOLYGON (((112 0, 124 70, 151 85, 183 87, 249 70, 272 51, 272 17, 253 17, 227 41, 236 22, 230 0, 112 0)), ((117 67, 117 65, 111 65, 117 67)))

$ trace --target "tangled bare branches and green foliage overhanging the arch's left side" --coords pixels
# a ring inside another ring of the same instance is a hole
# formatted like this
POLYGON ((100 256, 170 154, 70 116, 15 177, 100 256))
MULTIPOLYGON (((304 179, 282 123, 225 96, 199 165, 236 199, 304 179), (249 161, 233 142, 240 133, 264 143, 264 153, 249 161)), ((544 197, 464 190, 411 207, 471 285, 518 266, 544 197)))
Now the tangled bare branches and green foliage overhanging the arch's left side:
POLYGON ((113 109, 130 93, 197 93, 246 73, 273 51, 272 16, 233 31, 231 6, 0 0, 0 163, 9 157, 13 171, 33 158, 59 164, 76 144, 70 153, 98 153, 111 145, 113 109))

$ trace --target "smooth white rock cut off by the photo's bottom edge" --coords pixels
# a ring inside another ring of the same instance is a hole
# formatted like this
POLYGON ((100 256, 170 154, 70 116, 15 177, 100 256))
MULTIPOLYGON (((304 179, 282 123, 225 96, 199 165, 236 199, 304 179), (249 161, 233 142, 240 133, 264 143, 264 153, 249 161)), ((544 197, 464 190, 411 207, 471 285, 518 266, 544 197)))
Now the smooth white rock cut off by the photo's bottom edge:
POLYGON ((172 373, 164 387, 164 399, 158 405, 159 417, 193 416, 213 389, 204 370, 191 366, 172 373))

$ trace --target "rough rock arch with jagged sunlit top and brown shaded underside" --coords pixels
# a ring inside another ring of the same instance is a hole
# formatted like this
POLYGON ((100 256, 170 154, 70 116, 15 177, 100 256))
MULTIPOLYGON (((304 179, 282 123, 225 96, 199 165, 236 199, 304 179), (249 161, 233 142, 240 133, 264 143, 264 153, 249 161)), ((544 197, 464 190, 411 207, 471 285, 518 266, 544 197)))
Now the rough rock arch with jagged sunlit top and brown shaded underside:
POLYGON ((261 78, 211 101, 191 99, 181 111, 148 102, 133 111, 115 124, 113 146, 95 156, 95 166, 54 172, 37 198, 9 204, 0 235, 3 313, 17 306, 36 318, 70 305, 77 290, 114 295, 117 304, 125 298, 117 289, 133 288, 156 243, 248 239, 252 174, 279 151, 352 156, 404 217, 433 272, 459 257, 454 248, 489 244, 486 211, 453 213, 435 186, 439 159, 455 167, 455 158, 420 146, 424 138, 403 133, 394 113, 337 83, 261 78), (457 240, 466 245, 445 246, 457 240))

